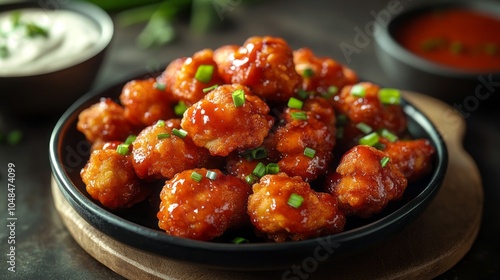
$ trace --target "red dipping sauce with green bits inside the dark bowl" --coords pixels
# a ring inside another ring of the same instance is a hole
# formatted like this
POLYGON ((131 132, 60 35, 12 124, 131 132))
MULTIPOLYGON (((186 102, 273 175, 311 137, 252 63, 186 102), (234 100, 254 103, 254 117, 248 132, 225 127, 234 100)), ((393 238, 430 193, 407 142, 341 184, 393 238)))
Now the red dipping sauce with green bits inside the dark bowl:
POLYGON ((442 65, 475 71, 500 70, 500 17, 462 8, 427 11, 395 32, 406 49, 442 65))

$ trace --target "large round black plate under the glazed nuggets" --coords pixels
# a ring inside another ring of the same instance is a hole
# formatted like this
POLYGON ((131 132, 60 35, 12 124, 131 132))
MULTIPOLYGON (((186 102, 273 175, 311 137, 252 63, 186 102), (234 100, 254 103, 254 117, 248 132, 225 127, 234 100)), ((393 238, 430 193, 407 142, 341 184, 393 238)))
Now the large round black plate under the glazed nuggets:
MULTIPOLYGON (((132 209, 111 212, 90 198, 80 179, 80 169, 89 157, 90 144, 76 130, 78 114, 101 97, 117 98, 123 85, 95 90, 80 98, 60 118, 50 139, 50 163, 54 178, 70 205, 92 226, 124 244, 159 256, 217 269, 270 270, 300 265, 304 260, 324 262, 351 255, 388 240, 413 222, 438 192, 448 163, 446 146, 440 134, 413 105, 403 100, 413 137, 427 138, 436 148, 434 170, 425 179, 408 185, 403 198, 370 219, 349 218, 342 233, 310 240, 271 243, 258 240, 250 229, 229 232, 216 242, 170 236, 157 227, 152 200, 132 209), (253 242, 227 242, 233 235, 253 242)), ((157 206, 156 206, 157 207, 157 206)))

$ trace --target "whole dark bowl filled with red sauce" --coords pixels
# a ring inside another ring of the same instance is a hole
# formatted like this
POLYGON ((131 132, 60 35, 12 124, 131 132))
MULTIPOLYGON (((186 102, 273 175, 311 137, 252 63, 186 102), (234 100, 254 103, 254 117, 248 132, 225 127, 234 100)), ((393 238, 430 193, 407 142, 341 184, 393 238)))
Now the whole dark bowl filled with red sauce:
POLYGON ((454 103, 458 110, 498 100, 500 2, 419 5, 376 28, 377 58, 394 86, 454 103))

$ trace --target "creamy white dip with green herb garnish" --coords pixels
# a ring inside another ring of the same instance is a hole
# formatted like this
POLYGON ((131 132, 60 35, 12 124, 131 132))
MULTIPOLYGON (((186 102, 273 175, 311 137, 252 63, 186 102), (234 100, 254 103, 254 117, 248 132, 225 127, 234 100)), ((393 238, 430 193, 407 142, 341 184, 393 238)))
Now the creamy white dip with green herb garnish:
POLYGON ((92 20, 68 10, 23 9, 20 22, 34 23, 48 36, 28 37, 26 28, 14 27, 12 11, 0 14, 0 76, 47 73, 90 57, 99 40, 99 29, 92 20))

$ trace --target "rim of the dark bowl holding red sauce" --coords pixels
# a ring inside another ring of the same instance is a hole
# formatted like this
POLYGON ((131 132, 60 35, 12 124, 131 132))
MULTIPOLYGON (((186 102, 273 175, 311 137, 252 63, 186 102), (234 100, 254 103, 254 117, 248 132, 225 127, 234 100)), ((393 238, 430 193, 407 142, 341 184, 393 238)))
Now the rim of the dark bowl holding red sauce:
POLYGON ((384 49, 390 56, 405 62, 409 65, 413 65, 414 67, 423 70, 425 72, 437 74, 444 77, 458 77, 464 79, 475 79, 480 75, 488 75, 492 73, 496 73, 495 75, 500 75, 500 69, 495 71, 476 71, 476 70, 467 70, 467 69, 458 69, 449 67, 443 64, 439 64, 436 62, 432 62, 425 58, 422 58, 398 43, 398 41, 392 36, 391 29, 394 24, 400 20, 404 20, 405 18, 412 17, 418 13, 422 13, 428 10, 436 9, 436 8, 468 8, 476 11, 487 11, 489 13, 494 13, 500 15, 500 3, 494 1, 451 1, 445 0, 440 2, 426 3, 417 5, 412 8, 408 8, 403 12, 392 17, 389 22, 385 25, 376 24, 374 37, 375 41, 378 45, 384 49))

